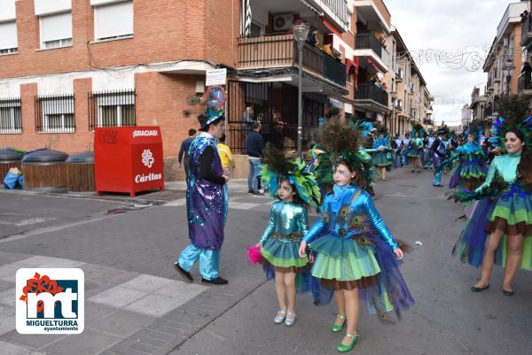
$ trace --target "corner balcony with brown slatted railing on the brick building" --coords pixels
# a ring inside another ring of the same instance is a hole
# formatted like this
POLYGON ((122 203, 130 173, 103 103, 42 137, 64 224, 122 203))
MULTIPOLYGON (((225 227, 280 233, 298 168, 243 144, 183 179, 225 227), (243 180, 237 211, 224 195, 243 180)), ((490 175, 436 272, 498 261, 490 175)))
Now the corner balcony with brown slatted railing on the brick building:
MULTIPOLYGON (((239 70, 294 67, 298 60, 293 35, 239 38, 239 70)), ((307 42, 303 46, 302 66, 309 73, 346 87, 346 66, 307 42)))

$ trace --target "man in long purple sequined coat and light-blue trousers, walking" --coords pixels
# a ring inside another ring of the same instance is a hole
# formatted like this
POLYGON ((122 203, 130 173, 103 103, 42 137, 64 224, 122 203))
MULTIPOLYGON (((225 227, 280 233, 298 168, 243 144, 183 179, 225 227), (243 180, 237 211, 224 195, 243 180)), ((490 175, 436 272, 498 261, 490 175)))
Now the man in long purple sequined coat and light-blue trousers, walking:
POLYGON ((200 115, 200 135, 189 149, 191 171, 186 190, 186 213, 191 243, 181 252, 175 268, 187 282, 192 282, 191 269, 200 260, 201 282, 221 285, 227 280, 219 276, 220 250, 227 217, 229 175, 223 173, 218 154, 218 139, 225 130, 223 88, 207 92, 207 112, 200 115))

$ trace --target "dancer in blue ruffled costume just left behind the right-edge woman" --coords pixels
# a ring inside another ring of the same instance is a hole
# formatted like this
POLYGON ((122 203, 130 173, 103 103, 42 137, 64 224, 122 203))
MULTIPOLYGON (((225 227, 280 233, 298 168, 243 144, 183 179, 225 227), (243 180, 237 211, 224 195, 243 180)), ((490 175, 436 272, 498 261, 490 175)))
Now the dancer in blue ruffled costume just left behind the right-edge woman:
POLYGON ((436 170, 442 171, 445 168, 455 170, 450 178, 449 188, 473 190, 478 188, 485 180, 488 173, 488 156, 481 147, 482 123, 473 121, 466 132, 467 143, 460 145, 457 151, 445 159, 436 170))

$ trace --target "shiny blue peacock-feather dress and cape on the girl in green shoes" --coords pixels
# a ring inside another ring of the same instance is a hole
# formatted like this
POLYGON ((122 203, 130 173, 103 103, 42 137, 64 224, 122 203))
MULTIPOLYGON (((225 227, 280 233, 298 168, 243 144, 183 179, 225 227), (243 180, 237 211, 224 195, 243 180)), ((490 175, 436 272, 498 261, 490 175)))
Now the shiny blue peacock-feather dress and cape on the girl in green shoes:
MULTIPOLYGON (((367 192, 334 185, 303 239, 317 253, 312 275, 320 287, 358 288, 370 313, 381 317, 414 303, 393 252, 397 243, 367 192)), ((317 304, 326 302, 323 290, 313 293, 317 304)))

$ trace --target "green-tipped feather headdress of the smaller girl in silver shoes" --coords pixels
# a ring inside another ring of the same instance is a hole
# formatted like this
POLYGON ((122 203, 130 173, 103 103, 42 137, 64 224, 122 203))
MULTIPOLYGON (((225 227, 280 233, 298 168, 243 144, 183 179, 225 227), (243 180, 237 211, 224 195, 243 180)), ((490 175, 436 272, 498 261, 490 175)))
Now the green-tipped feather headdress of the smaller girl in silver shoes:
POLYGON ((305 170, 305 163, 301 159, 286 157, 282 150, 276 149, 270 143, 262 150, 262 182, 270 191, 271 197, 277 197, 281 182, 288 179, 297 194, 306 205, 317 207, 320 204, 320 191, 316 176, 305 170))

